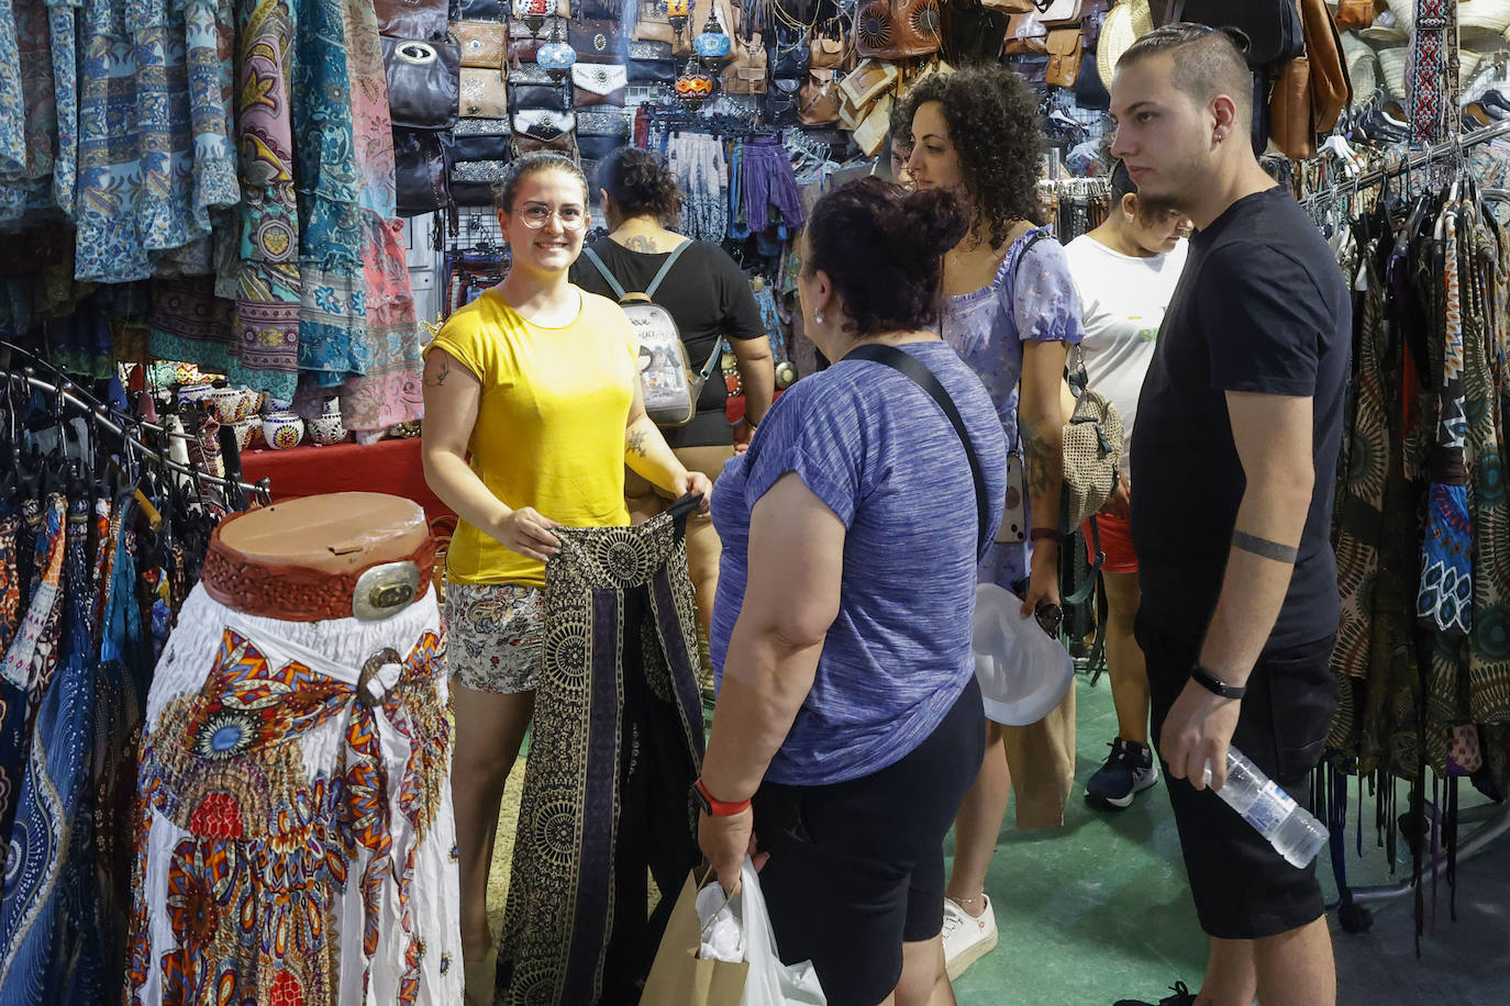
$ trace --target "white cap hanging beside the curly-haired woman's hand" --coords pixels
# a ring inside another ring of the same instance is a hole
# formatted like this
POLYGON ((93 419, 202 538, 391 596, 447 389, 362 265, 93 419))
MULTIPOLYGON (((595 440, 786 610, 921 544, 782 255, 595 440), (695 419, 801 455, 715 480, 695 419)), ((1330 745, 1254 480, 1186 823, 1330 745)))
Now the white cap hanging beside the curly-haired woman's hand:
POLYGON ((1036 618, 1022 617, 1016 594, 995 584, 975 588, 971 650, 986 716, 1009 727, 1046 716, 1075 682, 1075 662, 1065 647, 1036 618))

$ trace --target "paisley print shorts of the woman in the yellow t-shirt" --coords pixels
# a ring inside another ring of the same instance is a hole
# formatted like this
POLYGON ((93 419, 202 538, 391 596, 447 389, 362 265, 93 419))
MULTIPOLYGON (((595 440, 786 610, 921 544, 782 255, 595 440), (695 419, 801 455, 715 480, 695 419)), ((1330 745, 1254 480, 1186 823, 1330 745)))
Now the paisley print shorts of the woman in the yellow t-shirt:
POLYGON ((458 685, 528 692, 541 677, 545 591, 522 584, 447 584, 445 661, 458 685))

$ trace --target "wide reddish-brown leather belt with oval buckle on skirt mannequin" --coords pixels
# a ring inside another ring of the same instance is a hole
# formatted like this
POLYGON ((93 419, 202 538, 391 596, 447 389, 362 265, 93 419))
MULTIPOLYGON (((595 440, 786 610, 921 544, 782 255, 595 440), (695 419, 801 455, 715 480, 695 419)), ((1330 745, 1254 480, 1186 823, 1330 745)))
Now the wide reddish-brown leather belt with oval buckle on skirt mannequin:
POLYGON ((308 566, 272 566, 242 555, 210 535, 201 582, 222 605, 249 615, 282 621, 359 618, 381 621, 409 606, 430 588, 435 575, 433 537, 405 560, 371 563, 350 573, 326 573, 308 566))

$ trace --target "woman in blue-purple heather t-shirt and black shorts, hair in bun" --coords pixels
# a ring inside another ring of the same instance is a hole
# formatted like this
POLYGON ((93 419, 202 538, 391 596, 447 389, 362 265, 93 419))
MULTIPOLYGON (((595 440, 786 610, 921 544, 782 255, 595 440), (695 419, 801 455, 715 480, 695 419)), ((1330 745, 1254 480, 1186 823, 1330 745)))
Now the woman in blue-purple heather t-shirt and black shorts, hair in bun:
POLYGON ((969 612, 1006 465, 991 395, 933 330, 939 258, 965 225, 951 193, 874 178, 818 201, 799 293, 838 362, 766 413, 713 493, 720 679, 699 842, 732 887, 753 831, 782 958, 811 959, 830 1006, 948 995, 944 836, 980 765, 969 612), (953 401, 983 519, 960 433, 864 356, 876 347, 953 401))

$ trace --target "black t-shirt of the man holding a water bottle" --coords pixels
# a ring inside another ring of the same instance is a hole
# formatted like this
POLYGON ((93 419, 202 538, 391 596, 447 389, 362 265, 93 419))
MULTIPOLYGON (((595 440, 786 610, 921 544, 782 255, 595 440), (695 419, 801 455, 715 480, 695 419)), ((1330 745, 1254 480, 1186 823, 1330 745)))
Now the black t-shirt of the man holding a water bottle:
POLYGON ((1247 484, 1228 391, 1312 398, 1315 490, 1265 649, 1336 632, 1330 525, 1351 329, 1336 259, 1282 189, 1238 199, 1190 240, 1132 437, 1140 615, 1158 632, 1196 641, 1216 609, 1247 484))

